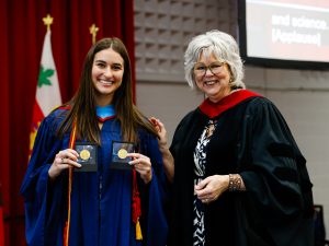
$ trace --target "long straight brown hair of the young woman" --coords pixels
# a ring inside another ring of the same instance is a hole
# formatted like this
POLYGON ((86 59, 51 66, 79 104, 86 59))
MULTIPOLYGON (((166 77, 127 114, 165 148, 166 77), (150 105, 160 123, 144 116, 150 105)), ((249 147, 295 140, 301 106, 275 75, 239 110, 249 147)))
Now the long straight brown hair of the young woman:
POLYGON ((57 133, 59 137, 63 137, 76 120, 77 139, 84 139, 98 144, 101 143, 100 128, 95 113, 95 89, 91 79, 91 70, 95 54, 107 48, 112 48, 118 52, 124 60, 123 82, 115 91, 112 102, 116 118, 121 122, 123 140, 137 142, 138 128, 144 128, 148 132, 157 136, 154 126, 133 103, 131 59, 122 40, 113 37, 99 40, 88 51, 82 67, 78 92, 72 99, 66 104, 66 106, 70 107, 70 110, 58 128, 57 133))

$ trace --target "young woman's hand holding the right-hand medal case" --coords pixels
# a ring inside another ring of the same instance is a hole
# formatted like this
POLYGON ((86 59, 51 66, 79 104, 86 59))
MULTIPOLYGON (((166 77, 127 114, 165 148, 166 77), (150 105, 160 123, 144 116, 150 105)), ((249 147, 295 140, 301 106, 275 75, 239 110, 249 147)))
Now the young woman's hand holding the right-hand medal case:
POLYGON ((128 153, 127 157, 133 157, 133 161, 131 161, 129 164, 134 165, 136 172, 140 174, 144 183, 148 184, 152 179, 150 159, 139 153, 128 153))

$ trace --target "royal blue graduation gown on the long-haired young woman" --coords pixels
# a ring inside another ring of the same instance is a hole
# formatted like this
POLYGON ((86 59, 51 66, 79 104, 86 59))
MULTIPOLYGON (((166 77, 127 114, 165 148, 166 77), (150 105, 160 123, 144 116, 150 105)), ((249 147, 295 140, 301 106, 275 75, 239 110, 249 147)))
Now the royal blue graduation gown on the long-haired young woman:
MULTIPOLYGON (((55 155, 69 145, 70 132, 64 139, 55 136, 65 117, 64 109, 47 116, 37 132, 33 153, 22 183, 25 199, 26 241, 33 246, 60 246, 67 218, 68 172, 54 181, 48 169, 55 155)), ((164 246, 167 241, 167 179, 157 139, 139 130, 140 153, 152 164, 152 180, 145 185, 137 174, 141 199, 143 242, 136 241, 132 221, 132 171, 111 169, 112 141, 121 140, 118 120, 109 119, 101 130, 98 148, 98 172, 73 172, 69 246, 164 246)))

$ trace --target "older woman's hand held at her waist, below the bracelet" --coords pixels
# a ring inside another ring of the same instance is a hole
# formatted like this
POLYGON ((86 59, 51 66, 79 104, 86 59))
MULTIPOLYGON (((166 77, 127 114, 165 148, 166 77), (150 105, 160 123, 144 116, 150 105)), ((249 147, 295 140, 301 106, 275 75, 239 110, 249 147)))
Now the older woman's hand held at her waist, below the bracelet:
POLYGON ((228 175, 213 175, 194 186, 194 192, 203 203, 209 203, 215 201, 224 191, 226 191, 228 185, 228 175))

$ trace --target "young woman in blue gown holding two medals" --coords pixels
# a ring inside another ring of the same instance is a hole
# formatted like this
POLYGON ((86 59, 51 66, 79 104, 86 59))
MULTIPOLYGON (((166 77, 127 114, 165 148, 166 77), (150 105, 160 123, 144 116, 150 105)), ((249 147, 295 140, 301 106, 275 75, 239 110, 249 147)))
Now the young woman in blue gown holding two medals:
POLYGON ((157 132, 133 105, 131 61, 118 38, 91 47, 77 94, 43 120, 21 194, 29 245, 166 245, 157 132), (134 151, 117 153, 115 141, 134 151), (125 168, 114 165, 116 155, 128 160, 125 168))

